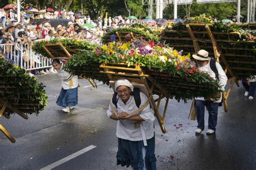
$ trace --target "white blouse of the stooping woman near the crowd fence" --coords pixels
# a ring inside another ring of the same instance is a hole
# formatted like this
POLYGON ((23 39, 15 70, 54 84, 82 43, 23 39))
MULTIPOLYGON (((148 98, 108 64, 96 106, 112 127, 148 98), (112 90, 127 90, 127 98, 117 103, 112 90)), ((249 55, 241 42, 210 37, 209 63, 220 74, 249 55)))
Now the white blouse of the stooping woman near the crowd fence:
POLYGON ((78 86, 78 77, 76 75, 71 76, 71 74, 66 72, 63 68, 58 69, 57 73, 58 73, 60 79, 62 80, 62 88, 64 90, 73 89, 78 86), (69 87, 71 79, 73 82, 73 86, 69 87))

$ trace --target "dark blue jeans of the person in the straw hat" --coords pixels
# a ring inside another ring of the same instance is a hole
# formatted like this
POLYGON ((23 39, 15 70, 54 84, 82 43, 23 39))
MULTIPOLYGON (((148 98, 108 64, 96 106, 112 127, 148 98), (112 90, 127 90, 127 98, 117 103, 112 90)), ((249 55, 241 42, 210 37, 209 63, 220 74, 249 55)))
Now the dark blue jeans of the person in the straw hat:
MULTIPOLYGON (((216 130, 219 103, 208 102, 208 129, 216 130)), ((198 129, 205 129, 205 101, 196 100, 198 129)))

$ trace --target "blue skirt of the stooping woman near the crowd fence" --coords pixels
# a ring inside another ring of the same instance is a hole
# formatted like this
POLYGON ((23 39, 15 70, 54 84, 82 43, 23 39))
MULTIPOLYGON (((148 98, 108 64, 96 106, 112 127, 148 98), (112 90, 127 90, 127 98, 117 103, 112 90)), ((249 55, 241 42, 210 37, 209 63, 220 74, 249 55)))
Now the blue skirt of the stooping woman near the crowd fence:
POLYGON ((61 107, 73 107, 78 104, 78 88, 60 90, 57 105, 61 107))

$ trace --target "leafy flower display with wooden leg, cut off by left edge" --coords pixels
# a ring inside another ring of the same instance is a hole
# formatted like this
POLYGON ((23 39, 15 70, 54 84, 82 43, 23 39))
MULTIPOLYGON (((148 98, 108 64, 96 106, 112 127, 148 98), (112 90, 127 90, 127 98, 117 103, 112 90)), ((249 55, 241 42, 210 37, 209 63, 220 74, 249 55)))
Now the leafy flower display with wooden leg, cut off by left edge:
MULTIPOLYGON (((18 114, 28 119, 28 114, 38 115, 47 105, 43 83, 25 73, 25 70, 0 56, 0 117, 18 114)), ((0 130, 12 143, 15 139, 0 124, 0 130)))

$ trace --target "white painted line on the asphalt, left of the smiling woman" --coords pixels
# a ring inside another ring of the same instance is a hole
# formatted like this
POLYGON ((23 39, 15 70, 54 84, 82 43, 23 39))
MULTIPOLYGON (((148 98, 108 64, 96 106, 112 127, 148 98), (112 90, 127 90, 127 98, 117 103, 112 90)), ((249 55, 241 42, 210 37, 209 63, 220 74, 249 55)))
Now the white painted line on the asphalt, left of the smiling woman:
POLYGON ((51 165, 48 165, 48 166, 42 168, 41 170, 49 170, 49 169, 55 168, 55 167, 57 167, 57 166, 59 166, 59 165, 61 165, 61 164, 64 164, 65 162, 67 162, 67 161, 69 161, 69 160, 71 160, 71 159, 73 159, 73 158, 78 157, 79 155, 81 155, 81 154, 83 154, 83 153, 85 153, 85 152, 87 152, 87 151, 92 150, 92 149, 95 148, 95 147, 97 147, 97 146, 95 146, 95 145, 90 145, 90 146, 88 146, 88 147, 85 147, 85 148, 83 148, 82 150, 77 151, 76 153, 73 153, 73 154, 69 155, 68 157, 65 157, 65 158, 63 158, 63 159, 60 159, 60 160, 58 160, 58 161, 52 163, 51 165))

